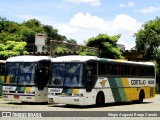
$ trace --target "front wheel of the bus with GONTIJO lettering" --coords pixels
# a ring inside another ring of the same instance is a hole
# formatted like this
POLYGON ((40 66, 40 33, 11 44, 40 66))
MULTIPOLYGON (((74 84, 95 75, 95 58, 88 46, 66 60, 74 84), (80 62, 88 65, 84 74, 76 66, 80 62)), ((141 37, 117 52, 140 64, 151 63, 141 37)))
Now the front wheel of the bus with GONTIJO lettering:
POLYGON ((96 97, 96 105, 103 106, 105 104, 104 94, 103 92, 99 92, 96 97))

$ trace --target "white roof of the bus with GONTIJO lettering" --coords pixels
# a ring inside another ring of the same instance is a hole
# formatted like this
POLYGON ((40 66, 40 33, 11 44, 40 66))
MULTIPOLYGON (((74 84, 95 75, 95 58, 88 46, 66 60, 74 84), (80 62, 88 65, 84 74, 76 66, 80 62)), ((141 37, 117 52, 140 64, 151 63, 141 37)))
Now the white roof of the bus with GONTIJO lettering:
POLYGON ((126 61, 120 59, 108 59, 108 58, 98 58, 97 56, 80 56, 80 55, 68 55, 68 56, 61 56, 52 58, 52 62, 85 62, 89 60, 96 60, 96 61, 108 61, 108 62, 115 62, 115 63, 129 63, 129 64, 137 64, 137 65, 153 65, 153 62, 135 62, 135 61, 126 61))

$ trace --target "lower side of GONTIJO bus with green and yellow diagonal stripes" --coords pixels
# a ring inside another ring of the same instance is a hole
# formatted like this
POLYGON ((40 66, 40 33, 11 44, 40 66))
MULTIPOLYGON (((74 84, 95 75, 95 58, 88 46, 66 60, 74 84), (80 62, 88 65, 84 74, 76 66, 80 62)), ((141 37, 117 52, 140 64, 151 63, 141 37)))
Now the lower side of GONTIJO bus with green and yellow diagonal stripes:
MULTIPOLYGON (((105 91, 105 89, 108 89, 107 92, 104 92, 106 102, 109 101, 125 102, 125 101, 138 100, 141 89, 143 89, 145 92, 145 98, 152 98, 155 96, 154 85, 148 84, 148 81, 150 79, 145 80, 146 81, 145 85, 131 85, 132 79, 139 80, 136 78, 113 78, 113 77, 98 79, 98 82, 96 83, 95 87, 97 87, 96 89, 99 89, 101 91, 105 91), (109 90, 111 90, 111 93, 109 90), (108 93, 112 95, 109 95, 108 93), (112 98, 114 100, 111 100, 112 98)), ((141 80, 144 81, 143 78, 141 80)))

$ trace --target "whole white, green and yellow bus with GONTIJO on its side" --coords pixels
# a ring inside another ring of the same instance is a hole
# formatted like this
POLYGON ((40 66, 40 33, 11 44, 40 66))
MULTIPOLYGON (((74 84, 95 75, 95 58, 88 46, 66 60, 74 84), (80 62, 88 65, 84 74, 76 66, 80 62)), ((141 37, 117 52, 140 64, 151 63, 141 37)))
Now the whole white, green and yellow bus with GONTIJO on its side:
POLYGON ((62 56, 51 61, 48 103, 104 105, 155 96, 155 66, 96 56, 62 56))

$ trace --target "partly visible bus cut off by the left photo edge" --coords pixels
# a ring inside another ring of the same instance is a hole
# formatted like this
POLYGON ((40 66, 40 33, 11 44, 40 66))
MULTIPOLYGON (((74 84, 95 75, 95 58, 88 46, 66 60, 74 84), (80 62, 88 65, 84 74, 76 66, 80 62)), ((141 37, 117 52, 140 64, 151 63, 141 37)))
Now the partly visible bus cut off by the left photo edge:
POLYGON ((2 86, 4 82, 4 74, 5 74, 5 60, 0 60, 0 96, 2 96, 2 86))

